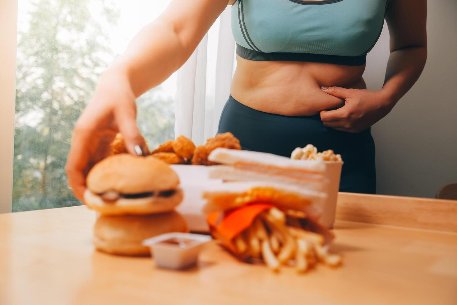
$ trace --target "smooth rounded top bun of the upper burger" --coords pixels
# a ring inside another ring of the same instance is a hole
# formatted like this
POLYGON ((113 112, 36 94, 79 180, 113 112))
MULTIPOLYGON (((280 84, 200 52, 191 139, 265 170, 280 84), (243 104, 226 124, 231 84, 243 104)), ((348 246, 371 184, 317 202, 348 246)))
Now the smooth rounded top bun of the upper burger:
POLYGON ((87 187, 93 193, 117 191, 125 194, 173 190, 178 175, 153 156, 111 155, 98 162, 87 176, 87 187))

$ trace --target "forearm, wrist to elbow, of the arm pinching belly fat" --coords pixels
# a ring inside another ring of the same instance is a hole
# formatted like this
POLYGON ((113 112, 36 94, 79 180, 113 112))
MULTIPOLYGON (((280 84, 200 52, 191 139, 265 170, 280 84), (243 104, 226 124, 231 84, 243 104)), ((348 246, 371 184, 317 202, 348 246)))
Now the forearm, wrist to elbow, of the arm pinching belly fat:
POLYGON ((382 91, 392 107, 417 81, 426 59, 426 47, 401 48, 390 53, 382 91))

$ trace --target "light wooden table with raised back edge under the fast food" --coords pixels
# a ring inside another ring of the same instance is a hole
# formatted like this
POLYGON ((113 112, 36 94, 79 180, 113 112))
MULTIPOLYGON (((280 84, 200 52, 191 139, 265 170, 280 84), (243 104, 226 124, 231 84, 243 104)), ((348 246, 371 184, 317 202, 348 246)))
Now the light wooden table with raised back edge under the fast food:
MULTIPOLYGON (((350 202, 374 209, 379 200, 403 205, 394 197, 340 195, 339 218, 352 217, 350 202)), ((455 217, 457 202, 433 203, 447 204, 445 218, 455 217)), ((384 219, 374 214, 374 221, 384 219)), ((333 250, 344 255, 344 266, 298 275, 240 263, 215 243, 199 268, 156 269, 150 258, 94 251, 94 222, 82 206, 1 214, 0 304, 457 304, 457 233, 443 228, 338 220, 333 250)))

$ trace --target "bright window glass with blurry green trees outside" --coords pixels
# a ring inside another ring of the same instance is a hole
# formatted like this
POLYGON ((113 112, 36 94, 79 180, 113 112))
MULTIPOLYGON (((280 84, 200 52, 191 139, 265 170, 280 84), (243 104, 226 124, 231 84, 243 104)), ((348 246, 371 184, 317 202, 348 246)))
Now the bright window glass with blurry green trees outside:
MULTIPOLYGON (((64 172, 74 123, 101 72, 170 1, 18 2, 12 210, 78 205, 64 172)), ((150 146, 174 137, 175 83, 137 100, 150 146)))

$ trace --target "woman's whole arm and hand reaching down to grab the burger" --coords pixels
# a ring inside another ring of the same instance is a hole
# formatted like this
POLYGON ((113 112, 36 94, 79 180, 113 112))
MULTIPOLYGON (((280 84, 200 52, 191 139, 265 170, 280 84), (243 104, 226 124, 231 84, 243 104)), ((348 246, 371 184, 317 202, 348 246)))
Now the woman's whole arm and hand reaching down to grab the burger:
POLYGON ((121 132, 128 152, 142 154, 135 99, 159 85, 186 62, 228 0, 173 0, 158 19, 143 27, 101 76, 92 100, 76 122, 65 167, 69 187, 83 200, 85 177, 110 153, 121 132))

